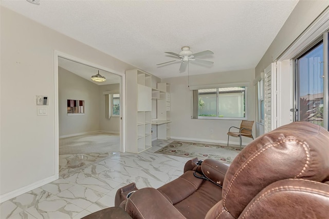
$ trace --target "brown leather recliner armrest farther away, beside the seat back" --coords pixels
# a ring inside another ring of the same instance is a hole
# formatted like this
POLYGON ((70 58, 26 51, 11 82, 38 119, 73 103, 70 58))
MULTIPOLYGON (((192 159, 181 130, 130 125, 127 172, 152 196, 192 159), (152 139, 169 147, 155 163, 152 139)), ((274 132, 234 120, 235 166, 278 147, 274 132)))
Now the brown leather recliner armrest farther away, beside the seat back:
POLYGON ((214 159, 205 159, 202 162, 201 170, 204 176, 206 176, 210 181, 214 182, 214 184, 223 186, 228 166, 214 159))

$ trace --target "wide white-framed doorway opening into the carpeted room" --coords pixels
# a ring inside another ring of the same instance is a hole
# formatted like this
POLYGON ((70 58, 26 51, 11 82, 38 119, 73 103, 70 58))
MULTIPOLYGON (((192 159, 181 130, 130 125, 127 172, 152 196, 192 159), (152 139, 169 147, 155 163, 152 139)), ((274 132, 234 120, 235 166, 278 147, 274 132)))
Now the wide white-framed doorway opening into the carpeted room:
POLYGON ((124 73, 113 73, 111 69, 60 52, 56 52, 55 66, 58 175, 67 168, 63 166, 67 166, 67 159, 72 159, 74 167, 80 167, 98 157, 104 158, 107 149, 108 153, 124 152, 124 73), (104 76, 106 83, 90 80, 97 74, 104 76), (109 93, 116 94, 112 95, 115 102, 105 101, 109 93), (106 104, 112 105, 105 107, 106 104), (106 109, 111 109, 110 117, 106 109), (62 150, 64 156, 60 155, 62 139, 75 146, 71 152, 62 150), (76 150, 79 146, 85 151, 76 150))

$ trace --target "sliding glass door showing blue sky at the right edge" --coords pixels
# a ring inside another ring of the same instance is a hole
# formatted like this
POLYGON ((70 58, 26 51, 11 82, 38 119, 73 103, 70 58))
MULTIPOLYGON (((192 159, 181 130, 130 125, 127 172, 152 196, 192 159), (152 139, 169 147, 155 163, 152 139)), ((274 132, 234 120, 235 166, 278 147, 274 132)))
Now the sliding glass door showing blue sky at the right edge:
POLYGON ((312 122, 323 127, 327 125, 324 109, 328 90, 324 80, 324 54, 321 40, 295 60, 295 120, 312 122))

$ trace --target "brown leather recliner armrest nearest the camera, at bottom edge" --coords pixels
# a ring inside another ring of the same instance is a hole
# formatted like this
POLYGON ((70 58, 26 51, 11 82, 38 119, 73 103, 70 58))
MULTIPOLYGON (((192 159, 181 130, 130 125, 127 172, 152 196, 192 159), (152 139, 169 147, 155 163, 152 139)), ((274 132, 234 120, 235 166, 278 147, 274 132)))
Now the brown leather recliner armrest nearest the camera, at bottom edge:
POLYGON ((127 200, 125 211, 133 218, 185 218, 154 188, 143 188, 134 192, 127 200))

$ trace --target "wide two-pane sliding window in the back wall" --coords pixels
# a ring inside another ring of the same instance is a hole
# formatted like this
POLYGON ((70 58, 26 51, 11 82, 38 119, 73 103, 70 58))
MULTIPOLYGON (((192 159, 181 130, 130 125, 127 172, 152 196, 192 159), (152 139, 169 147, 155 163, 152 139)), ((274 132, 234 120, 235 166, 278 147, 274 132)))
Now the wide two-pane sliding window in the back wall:
POLYGON ((198 89, 193 92, 193 118, 198 119, 245 119, 246 118, 246 91, 242 87, 223 87, 198 89), (197 104, 197 107, 196 107, 197 104))

